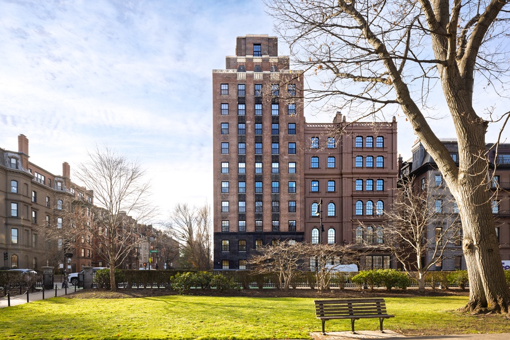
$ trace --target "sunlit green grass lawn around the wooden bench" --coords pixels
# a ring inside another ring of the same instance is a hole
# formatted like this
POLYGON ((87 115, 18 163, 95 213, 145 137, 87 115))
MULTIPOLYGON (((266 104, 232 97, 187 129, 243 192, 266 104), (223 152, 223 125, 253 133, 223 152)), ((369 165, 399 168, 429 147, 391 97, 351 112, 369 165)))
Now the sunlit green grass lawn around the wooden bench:
MULTIPOLYGON (((503 316, 453 310, 467 297, 386 298, 387 329, 406 334, 510 332, 503 316)), ((377 330, 378 319, 356 329, 377 330)), ((164 296, 133 299, 52 298, 0 309, 2 339, 309 339, 320 331, 310 298, 164 296)), ((350 330, 349 320, 326 322, 350 330)))

